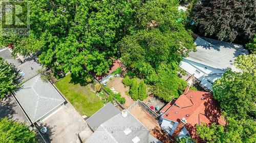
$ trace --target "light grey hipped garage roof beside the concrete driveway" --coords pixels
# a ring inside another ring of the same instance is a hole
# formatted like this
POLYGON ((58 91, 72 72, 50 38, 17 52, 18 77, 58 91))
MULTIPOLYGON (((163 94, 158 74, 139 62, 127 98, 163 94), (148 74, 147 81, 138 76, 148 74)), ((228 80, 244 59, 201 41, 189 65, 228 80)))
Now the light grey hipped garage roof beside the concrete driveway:
POLYGON ((15 95, 32 122, 65 102, 53 85, 49 81, 42 81, 39 75, 23 83, 15 95))

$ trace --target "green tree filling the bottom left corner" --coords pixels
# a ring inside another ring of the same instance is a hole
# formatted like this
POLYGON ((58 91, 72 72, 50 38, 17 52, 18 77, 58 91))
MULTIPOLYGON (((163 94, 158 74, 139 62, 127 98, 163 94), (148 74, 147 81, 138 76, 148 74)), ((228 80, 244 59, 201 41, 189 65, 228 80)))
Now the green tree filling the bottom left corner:
POLYGON ((0 142, 3 143, 34 143, 35 133, 25 124, 0 119, 0 142))

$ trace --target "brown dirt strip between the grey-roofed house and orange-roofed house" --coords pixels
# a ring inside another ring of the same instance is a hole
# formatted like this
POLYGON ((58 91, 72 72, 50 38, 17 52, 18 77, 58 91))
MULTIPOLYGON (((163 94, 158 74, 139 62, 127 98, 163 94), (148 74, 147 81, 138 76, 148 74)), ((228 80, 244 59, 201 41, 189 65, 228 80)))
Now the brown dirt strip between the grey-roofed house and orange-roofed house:
POLYGON ((152 116, 150 116, 144 109, 139 105, 134 106, 130 112, 134 117, 136 117, 148 130, 150 130, 151 135, 162 141, 163 143, 171 143, 172 140, 169 139, 168 134, 162 130, 157 122, 152 116))

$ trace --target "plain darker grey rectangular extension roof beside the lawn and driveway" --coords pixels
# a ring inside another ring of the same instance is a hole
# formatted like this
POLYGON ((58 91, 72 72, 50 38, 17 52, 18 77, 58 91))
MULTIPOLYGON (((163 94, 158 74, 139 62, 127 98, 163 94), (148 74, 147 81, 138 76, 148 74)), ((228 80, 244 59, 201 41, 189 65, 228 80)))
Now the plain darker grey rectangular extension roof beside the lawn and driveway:
POLYGON ((98 110, 92 117, 86 120, 90 128, 95 131, 102 123, 116 116, 120 111, 111 103, 106 104, 98 110))

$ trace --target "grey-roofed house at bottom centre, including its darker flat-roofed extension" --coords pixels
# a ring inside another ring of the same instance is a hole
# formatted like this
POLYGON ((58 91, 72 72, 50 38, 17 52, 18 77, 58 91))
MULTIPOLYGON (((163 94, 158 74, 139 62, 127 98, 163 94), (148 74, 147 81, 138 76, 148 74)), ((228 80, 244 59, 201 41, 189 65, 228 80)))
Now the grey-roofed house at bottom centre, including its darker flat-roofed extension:
POLYGON ((87 143, 161 142, 153 137, 129 111, 119 111, 112 103, 106 104, 86 122, 94 131, 87 139, 87 143))

